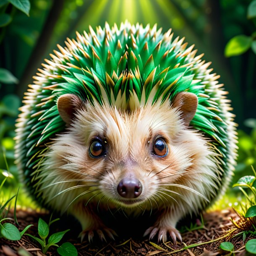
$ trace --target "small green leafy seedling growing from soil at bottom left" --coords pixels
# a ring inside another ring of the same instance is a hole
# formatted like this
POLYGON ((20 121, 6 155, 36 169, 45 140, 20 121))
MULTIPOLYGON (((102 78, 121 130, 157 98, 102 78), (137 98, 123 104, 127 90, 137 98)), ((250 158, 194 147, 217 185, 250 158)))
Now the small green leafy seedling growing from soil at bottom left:
POLYGON ((77 256, 78 253, 77 253, 76 247, 73 246, 73 244, 63 243, 61 246, 57 245, 57 243, 60 242, 60 240, 65 235, 65 233, 69 231, 69 229, 50 235, 50 237, 46 241, 46 238, 49 235, 50 225, 53 222, 56 222, 57 220, 59 220, 59 219, 54 219, 52 221, 50 219, 49 224, 47 224, 43 219, 39 218, 38 234, 39 234, 40 238, 37 238, 34 235, 30 235, 30 234, 25 234, 25 235, 28 235, 31 238, 33 238, 34 240, 36 240, 41 245, 43 253, 47 253, 48 249, 51 246, 56 246, 56 247, 58 247, 57 252, 62 256, 77 256))

